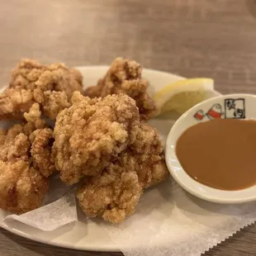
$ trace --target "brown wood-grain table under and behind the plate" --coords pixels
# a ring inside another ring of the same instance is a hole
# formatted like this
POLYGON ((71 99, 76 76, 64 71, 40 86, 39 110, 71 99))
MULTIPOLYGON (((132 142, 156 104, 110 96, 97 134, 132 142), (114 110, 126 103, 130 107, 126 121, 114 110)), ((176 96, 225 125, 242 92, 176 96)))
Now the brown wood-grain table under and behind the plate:
MULTIPOLYGON (((22 57, 87 65, 125 56, 151 69, 214 78, 223 93, 256 92, 254 0, 7 0, 0 31, 1 86, 22 57)), ((121 255, 55 248, 5 230, 0 254, 121 255)), ((256 255, 256 226, 206 255, 256 255)))

